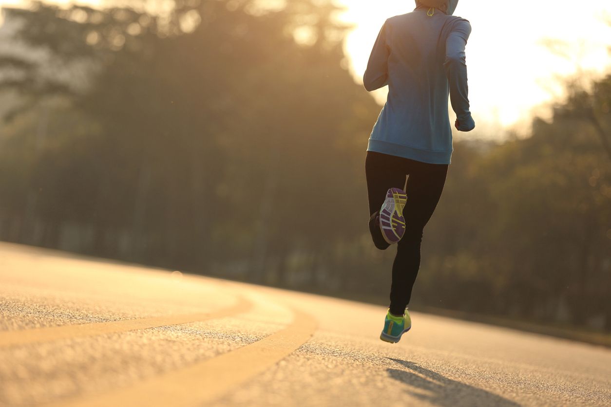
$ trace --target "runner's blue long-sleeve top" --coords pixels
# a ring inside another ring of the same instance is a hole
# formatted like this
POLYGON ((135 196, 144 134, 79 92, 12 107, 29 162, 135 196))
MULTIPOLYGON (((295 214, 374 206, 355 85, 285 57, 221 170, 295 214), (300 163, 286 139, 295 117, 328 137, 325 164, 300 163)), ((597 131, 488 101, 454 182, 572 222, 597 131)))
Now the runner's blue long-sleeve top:
MULTIPOLYGON (((469 111, 465 47, 469 21, 418 0, 416 9, 386 20, 363 77, 368 91, 389 85, 368 151, 431 164, 450 164, 452 128, 448 95, 460 131, 475 122, 469 111)), ((448 0, 445 0, 448 2, 448 0)), ((441 0, 444 2, 444 0, 441 0)))

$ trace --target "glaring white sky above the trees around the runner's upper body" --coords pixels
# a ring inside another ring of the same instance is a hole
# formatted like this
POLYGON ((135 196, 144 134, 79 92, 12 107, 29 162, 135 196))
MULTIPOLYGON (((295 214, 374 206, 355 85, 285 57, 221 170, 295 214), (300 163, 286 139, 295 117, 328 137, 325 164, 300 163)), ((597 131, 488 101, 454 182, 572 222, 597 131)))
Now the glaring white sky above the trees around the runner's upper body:
MULTIPOLYGON (((384 20, 411 12, 414 1, 335 1, 346 7, 340 18, 354 24, 345 49, 351 73, 361 82, 384 20)), ((25 2, 0 0, 0 7, 25 2)), ((159 4, 163 2, 159 0, 159 4)), ((480 124, 510 128, 528 123, 533 113, 545 117, 549 112, 546 106, 563 96, 563 78, 576 73, 596 77, 611 71, 609 0, 589 0, 587 4, 574 0, 461 0, 455 15, 467 18, 473 29, 467 45, 469 98, 480 124), (556 52, 546 43, 554 43, 556 52)), ((379 103, 384 103, 386 92, 375 93, 379 103)))

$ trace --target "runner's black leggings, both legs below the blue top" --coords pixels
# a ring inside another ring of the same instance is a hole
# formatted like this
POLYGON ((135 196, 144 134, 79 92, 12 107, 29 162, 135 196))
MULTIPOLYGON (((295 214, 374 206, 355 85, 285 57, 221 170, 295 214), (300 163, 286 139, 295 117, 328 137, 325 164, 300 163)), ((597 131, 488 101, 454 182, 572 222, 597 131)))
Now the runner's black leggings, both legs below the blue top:
POLYGON ((376 247, 384 250, 389 247, 384 242, 379 227, 374 225, 386 200, 390 188, 406 187, 408 203, 403 211, 406 229, 403 239, 397 244, 397 255, 392 265, 392 286, 390 287, 390 312, 403 315, 412 295, 418 270, 420 268, 420 243, 426 223, 433 215, 435 207, 444 190, 448 165, 428 164, 388 154, 367 152, 365 174, 367 175, 367 194, 371 238, 376 247))

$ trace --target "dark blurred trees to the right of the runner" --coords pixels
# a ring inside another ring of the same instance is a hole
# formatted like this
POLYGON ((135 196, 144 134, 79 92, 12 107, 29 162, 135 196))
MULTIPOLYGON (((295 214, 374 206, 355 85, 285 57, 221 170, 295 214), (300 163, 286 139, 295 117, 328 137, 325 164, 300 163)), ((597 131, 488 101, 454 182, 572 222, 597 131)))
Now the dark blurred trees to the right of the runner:
POLYGON ((609 330, 611 160, 601 131, 611 129, 610 85, 607 76, 591 93, 572 88, 527 139, 486 154, 456 147, 426 231, 420 301, 577 325, 602 320, 609 330))

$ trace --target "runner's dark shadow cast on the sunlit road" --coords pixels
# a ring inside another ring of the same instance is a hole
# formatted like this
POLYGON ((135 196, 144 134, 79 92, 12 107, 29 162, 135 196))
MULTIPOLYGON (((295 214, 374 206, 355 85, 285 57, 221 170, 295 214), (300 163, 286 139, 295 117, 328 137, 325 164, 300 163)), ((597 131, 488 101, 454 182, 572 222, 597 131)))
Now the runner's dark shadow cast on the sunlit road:
POLYGON ((423 401, 433 403, 438 406, 496 406, 496 407, 516 407, 518 403, 511 402, 507 398, 492 394, 491 392, 478 389, 469 384, 464 384, 456 380, 448 379, 433 370, 425 369, 415 363, 392 359, 403 369, 387 369, 390 377, 401 383, 416 387, 421 391, 411 392, 411 395, 423 401))

